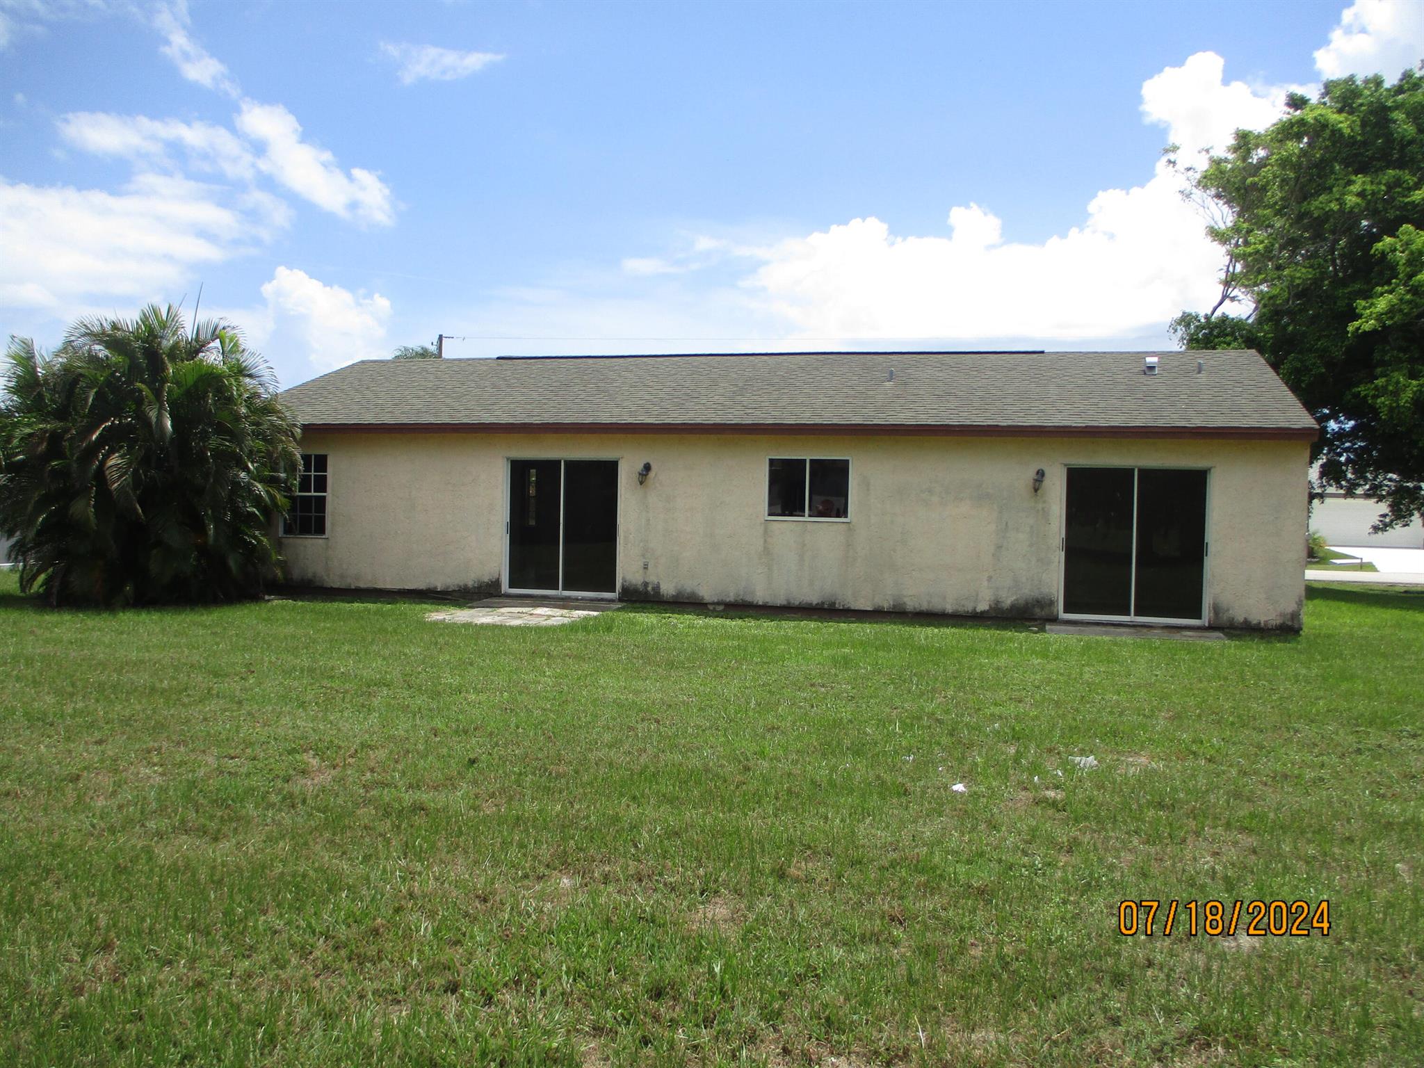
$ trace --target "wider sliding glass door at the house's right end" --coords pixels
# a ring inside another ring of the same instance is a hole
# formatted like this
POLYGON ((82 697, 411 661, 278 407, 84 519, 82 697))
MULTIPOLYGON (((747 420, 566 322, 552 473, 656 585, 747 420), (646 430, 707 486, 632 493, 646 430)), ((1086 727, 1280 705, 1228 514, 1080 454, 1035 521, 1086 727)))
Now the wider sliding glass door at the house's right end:
POLYGON ((1206 471, 1069 467, 1062 614, 1203 622, 1206 471))

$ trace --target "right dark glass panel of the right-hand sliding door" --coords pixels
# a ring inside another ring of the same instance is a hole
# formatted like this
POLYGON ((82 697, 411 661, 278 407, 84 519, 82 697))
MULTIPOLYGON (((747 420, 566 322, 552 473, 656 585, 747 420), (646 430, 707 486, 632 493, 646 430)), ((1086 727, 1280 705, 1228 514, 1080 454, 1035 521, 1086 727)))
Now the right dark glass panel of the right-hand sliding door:
POLYGON ((1206 471, 1138 471, 1138 581, 1134 615, 1202 618, 1206 471))

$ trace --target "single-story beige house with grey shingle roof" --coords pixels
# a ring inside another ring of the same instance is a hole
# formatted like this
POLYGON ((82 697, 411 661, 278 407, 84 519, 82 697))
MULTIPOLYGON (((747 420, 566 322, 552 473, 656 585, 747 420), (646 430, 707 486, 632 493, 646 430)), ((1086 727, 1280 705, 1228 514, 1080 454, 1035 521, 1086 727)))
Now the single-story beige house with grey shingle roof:
POLYGON ((286 390, 293 582, 1297 629, 1255 352, 366 360, 286 390))

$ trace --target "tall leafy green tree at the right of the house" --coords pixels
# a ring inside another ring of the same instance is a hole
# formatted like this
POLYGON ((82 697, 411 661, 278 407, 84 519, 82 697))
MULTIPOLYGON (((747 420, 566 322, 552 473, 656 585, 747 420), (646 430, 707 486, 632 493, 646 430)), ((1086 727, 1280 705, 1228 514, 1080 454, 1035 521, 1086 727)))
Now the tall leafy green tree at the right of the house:
POLYGON ((1327 81, 1192 175, 1219 214, 1222 302, 1188 349, 1255 347, 1323 426, 1326 484, 1424 513, 1424 77, 1327 81))

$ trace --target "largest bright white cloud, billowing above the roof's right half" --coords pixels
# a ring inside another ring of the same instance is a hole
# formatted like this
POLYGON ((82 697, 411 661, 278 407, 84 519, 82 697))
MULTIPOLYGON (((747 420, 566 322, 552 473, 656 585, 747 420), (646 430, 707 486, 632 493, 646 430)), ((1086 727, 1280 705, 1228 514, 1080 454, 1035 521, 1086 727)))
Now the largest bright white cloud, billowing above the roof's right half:
MULTIPOLYGON (((1213 53, 1142 87, 1142 112, 1185 151, 1225 148, 1237 127, 1280 115, 1284 87, 1227 83, 1213 53)), ((807 337, 1106 339, 1163 330, 1210 306, 1220 249, 1159 161, 1128 189, 1105 189, 1077 226, 1042 242, 1004 241, 978 204, 956 206, 948 234, 900 236, 874 216, 760 251, 743 286, 807 337)))

